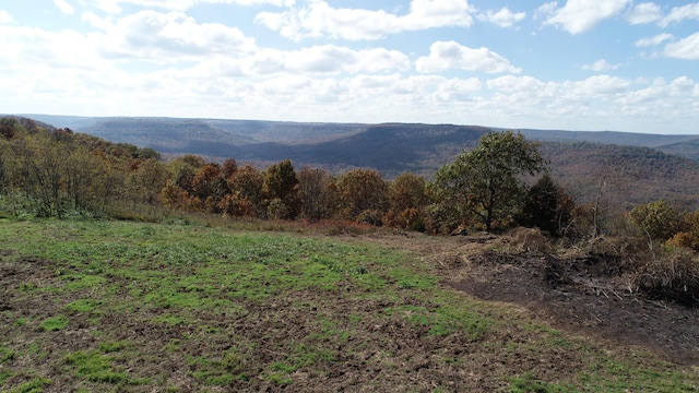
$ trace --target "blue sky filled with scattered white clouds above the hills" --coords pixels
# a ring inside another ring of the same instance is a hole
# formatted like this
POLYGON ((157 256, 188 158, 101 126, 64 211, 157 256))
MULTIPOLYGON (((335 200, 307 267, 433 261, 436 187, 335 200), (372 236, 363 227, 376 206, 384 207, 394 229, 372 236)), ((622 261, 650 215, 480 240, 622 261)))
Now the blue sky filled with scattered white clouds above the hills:
POLYGON ((0 0, 0 52, 2 114, 699 134, 699 2, 0 0))

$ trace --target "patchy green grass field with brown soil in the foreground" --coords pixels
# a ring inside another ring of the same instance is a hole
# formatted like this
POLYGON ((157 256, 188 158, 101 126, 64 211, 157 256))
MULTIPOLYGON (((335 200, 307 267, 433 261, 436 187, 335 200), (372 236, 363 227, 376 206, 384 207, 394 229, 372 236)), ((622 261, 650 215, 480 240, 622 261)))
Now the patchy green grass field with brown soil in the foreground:
POLYGON ((277 229, 3 219, 0 390, 699 389, 690 368, 475 301, 405 251, 277 229))

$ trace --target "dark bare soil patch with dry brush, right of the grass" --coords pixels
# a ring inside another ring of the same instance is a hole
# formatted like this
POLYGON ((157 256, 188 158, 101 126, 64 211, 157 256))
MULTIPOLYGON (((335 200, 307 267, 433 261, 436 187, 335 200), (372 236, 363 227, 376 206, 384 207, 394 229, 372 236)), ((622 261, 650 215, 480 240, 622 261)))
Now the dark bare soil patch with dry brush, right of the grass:
POLYGON ((494 236, 455 241, 461 246, 440 262, 453 288, 522 306, 533 318, 609 345, 639 346, 675 364, 699 365, 697 303, 640 293, 620 258, 496 252, 487 246, 505 246, 507 239, 494 236))

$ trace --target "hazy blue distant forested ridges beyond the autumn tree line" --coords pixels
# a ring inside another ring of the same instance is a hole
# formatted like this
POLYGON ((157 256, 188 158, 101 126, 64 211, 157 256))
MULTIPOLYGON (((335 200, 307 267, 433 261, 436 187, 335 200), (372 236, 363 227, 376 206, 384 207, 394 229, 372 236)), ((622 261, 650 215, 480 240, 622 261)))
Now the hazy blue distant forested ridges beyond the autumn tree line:
MULTIPOLYGON (((166 155, 197 154, 212 160, 232 157, 260 167, 289 158, 298 168, 311 166, 340 174, 366 167, 386 178, 412 171, 429 179, 491 130, 420 123, 27 117, 166 155)), ((550 160, 555 177, 580 198, 591 194, 605 177, 628 203, 665 198, 699 206, 699 135, 520 131, 529 140, 542 142, 542 154, 550 160)))

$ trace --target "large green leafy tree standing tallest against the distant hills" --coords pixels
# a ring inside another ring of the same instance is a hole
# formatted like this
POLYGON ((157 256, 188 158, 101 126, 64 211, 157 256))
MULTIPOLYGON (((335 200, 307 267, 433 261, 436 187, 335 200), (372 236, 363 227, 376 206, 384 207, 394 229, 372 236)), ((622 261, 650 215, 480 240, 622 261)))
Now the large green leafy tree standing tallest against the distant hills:
POLYGON ((491 132, 473 151, 442 166, 435 183, 440 198, 477 217, 490 231, 496 219, 510 218, 521 206, 526 191, 522 177, 545 168, 537 143, 528 142, 520 132, 491 132))

